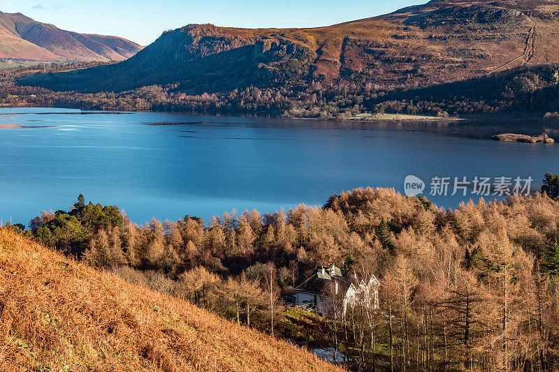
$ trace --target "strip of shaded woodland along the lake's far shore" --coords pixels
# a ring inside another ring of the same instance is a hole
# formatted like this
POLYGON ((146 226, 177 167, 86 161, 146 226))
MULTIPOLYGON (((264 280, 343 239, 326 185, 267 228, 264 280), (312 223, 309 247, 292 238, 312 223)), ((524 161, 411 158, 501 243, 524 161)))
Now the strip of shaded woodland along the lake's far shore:
MULTIPOLYGON (((152 85, 121 93, 84 94, 6 82, 0 86, 0 105, 319 119, 348 119, 361 112, 447 117, 518 111, 539 117, 549 112, 546 118, 556 119, 553 113, 559 111, 556 99, 559 66, 556 64, 523 66, 430 87, 409 84, 386 87, 368 81, 363 74, 366 75, 366 71, 354 73, 349 80, 340 82, 293 80, 277 87, 252 85, 213 94, 203 90, 185 91, 179 83, 152 85)), ((3 72, 3 75, 19 76, 14 71, 3 72)))

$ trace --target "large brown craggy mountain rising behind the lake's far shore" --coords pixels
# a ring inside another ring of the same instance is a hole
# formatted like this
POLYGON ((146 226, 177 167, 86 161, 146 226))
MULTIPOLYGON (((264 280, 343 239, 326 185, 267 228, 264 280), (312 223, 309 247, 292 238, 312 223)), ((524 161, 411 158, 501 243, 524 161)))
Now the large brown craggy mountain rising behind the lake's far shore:
POLYGON ((558 0, 433 0, 312 29, 191 24, 122 63, 23 83, 87 92, 174 82, 191 92, 312 80, 423 87, 558 61, 558 29, 558 0))

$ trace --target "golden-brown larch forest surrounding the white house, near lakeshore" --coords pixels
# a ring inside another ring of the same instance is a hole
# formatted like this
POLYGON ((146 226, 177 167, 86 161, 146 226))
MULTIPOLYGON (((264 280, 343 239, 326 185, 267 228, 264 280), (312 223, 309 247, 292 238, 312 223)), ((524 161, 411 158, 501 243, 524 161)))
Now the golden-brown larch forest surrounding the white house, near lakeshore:
POLYGON ((559 176, 542 193, 444 209, 389 188, 206 223, 137 225, 115 206, 43 211, 13 230, 133 283, 301 344, 354 371, 554 371, 559 366, 559 176), (288 306, 321 265, 375 275, 380 306, 343 320, 288 306))

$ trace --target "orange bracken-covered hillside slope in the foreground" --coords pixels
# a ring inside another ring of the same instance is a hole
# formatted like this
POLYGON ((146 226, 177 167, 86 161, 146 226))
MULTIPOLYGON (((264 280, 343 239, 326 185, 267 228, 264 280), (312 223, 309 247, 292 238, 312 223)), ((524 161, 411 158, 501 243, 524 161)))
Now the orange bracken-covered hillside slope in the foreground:
POLYGON ((338 371, 0 229, 2 371, 338 371))

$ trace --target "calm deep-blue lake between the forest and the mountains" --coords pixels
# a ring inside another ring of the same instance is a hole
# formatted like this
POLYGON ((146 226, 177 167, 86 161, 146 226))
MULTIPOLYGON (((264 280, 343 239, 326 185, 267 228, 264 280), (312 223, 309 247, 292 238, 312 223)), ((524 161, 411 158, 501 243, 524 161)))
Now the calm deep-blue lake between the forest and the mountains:
MULTIPOLYGON (((426 194, 432 177, 532 177, 539 189, 544 173, 559 173, 559 144, 500 143, 491 135, 546 130, 556 137, 557 128, 514 123, 2 108, 0 217, 27 225, 43 209, 68 210, 83 193, 118 205, 137 223, 186 214, 208 221, 233 208, 321 205, 361 186, 404 191, 408 174, 425 181, 426 194)), ((477 200, 471 191, 427 197, 456 207, 477 200)))

